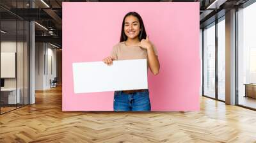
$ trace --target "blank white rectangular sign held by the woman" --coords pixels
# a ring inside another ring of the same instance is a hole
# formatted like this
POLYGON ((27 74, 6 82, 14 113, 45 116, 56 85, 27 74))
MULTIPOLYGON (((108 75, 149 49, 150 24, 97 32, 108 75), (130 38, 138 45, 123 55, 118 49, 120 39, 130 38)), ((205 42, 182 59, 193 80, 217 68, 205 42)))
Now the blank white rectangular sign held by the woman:
POLYGON ((74 93, 147 89, 147 59, 73 63, 74 93))

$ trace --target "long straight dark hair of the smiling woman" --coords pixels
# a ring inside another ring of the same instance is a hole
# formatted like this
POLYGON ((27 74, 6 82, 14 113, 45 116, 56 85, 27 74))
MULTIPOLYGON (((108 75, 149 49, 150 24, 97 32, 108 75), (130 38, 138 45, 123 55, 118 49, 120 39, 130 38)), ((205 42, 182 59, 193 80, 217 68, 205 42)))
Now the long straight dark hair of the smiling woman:
POLYGON ((127 36, 126 36, 126 34, 124 33, 124 22, 125 22, 124 20, 125 20, 126 17, 128 17, 128 16, 130 16, 130 15, 132 15, 132 16, 134 16, 134 17, 137 17, 137 19, 138 19, 139 22, 140 22, 140 29, 141 29, 141 31, 140 31, 140 33, 139 33, 139 40, 141 41, 142 39, 146 39, 147 33, 146 33, 146 29, 145 29, 144 24, 143 24, 143 20, 141 19, 140 15, 139 15, 138 13, 132 11, 132 12, 127 13, 127 14, 124 16, 123 23, 122 23, 122 31, 121 31, 120 42, 127 40, 127 36))

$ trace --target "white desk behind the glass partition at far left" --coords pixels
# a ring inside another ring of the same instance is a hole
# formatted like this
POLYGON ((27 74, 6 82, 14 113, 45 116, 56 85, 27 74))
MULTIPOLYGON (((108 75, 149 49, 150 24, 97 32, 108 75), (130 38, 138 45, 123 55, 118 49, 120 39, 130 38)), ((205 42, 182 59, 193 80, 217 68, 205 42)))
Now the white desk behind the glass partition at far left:
POLYGON ((1 89, 1 101, 4 102, 4 104, 16 104, 16 101, 17 103, 20 103, 20 89, 17 88, 17 91, 18 94, 16 98, 16 88, 1 89))

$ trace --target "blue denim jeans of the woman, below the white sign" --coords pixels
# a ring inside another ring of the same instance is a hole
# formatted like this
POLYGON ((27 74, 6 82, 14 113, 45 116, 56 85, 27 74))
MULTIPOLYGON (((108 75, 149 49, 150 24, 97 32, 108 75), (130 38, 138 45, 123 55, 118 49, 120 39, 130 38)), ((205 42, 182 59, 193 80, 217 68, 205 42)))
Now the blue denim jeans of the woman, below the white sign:
POLYGON ((115 91, 114 94, 114 111, 150 111, 151 105, 149 100, 148 89, 142 92, 124 93, 115 91))

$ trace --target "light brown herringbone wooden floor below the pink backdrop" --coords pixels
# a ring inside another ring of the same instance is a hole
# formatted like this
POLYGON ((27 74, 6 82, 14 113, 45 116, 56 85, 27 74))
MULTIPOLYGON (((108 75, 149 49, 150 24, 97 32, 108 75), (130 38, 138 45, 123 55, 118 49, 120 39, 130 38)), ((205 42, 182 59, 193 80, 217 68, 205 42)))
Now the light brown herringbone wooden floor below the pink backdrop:
POLYGON ((0 142, 256 142, 256 112, 200 98, 200 112, 62 112, 61 87, 0 116, 0 142))

